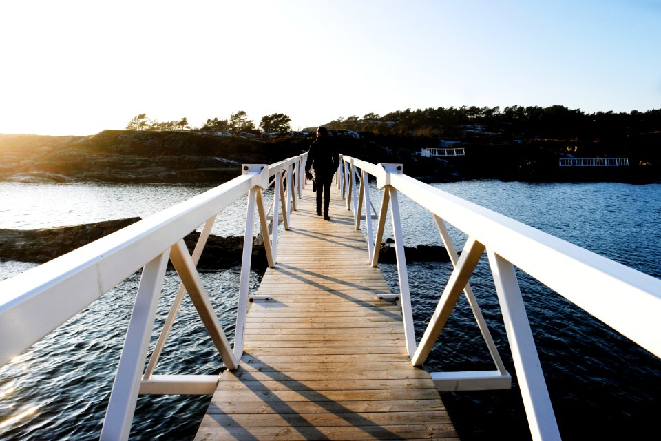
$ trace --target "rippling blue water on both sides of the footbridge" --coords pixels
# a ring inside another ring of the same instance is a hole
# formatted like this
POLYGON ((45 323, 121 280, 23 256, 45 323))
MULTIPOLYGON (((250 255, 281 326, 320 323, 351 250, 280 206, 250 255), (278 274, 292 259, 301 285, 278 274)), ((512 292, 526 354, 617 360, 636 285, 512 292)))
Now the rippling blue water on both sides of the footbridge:
MULTIPOLYGON (((472 181, 438 186, 661 278, 660 184, 472 181)), ((35 228, 147 216, 207 188, 0 183, 0 227, 35 228)), ((374 188, 373 203, 380 204, 374 188)), ((400 203, 406 245, 439 245, 431 216, 406 197, 400 203)), ((214 234, 241 235, 244 204, 238 201, 229 207, 214 226, 214 234)), ((450 234, 461 248, 463 235, 455 229, 450 234)), ((31 266, 1 263, 0 278, 31 266)), ((391 289, 398 291, 395 266, 381 265, 381 269, 391 289)), ((419 338, 451 265, 417 263, 408 270, 419 338)), ((644 439, 644 433, 655 429, 661 411, 660 360, 521 271, 518 276, 563 438, 626 435, 644 439)), ((239 269, 203 273, 202 278, 232 341, 239 269)), ((258 282, 259 276, 252 274, 253 288, 258 282)), ((0 440, 98 438, 137 283, 136 275, 0 368, 0 440), (11 416, 31 410, 20 421, 2 425, 11 416)), ((527 439, 521 394, 485 258, 470 283, 512 373, 513 387, 508 391, 443 393, 443 401, 464 440, 527 439)), ((165 320, 177 288, 175 274, 169 273, 156 329, 165 320)), ((204 327, 189 300, 182 305, 180 316, 156 373, 218 373, 222 362, 204 338, 204 327)), ((156 333, 152 345, 155 339, 156 333)), ((431 371, 493 369, 463 298, 426 367, 431 371)), ((132 439, 192 439, 208 401, 208 396, 140 397, 132 439)))

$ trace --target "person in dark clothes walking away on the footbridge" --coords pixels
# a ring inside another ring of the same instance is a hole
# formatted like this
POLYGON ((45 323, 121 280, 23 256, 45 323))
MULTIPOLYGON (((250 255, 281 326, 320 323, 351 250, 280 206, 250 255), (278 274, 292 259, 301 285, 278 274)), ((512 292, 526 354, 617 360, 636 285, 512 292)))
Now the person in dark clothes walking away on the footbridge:
POLYGON ((322 126, 317 129, 317 140, 310 145, 308 160, 305 162, 305 177, 312 179, 310 173, 315 171, 315 182, 317 183, 317 214, 322 215, 322 194, 324 196, 324 219, 330 220, 328 216, 328 205, 330 204, 330 183, 333 174, 339 165, 339 152, 328 139, 328 129, 322 126))

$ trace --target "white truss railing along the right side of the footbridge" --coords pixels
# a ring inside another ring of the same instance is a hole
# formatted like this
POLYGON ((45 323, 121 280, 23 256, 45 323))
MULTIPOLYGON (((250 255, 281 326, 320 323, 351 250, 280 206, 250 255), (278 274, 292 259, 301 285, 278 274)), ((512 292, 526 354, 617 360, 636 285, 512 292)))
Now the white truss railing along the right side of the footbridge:
POLYGON ((560 433, 514 272, 515 265, 641 347, 661 357, 661 280, 421 183, 404 175, 401 164, 375 165, 350 156, 343 156, 342 162, 338 169, 338 182, 342 186, 342 194, 346 197, 347 209, 353 210, 355 227, 360 229, 361 220, 366 221, 368 257, 372 266, 376 266, 379 260, 379 245, 384 233, 386 212, 390 209, 399 276, 400 293, 397 296, 401 298, 406 348, 412 364, 418 366, 425 362, 462 291, 468 298, 491 352, 496 366, 494 371, 432 373, 439 390, 510 387, 510 374, 505 371, 468 285, 468 279, 484 252, 492 270, 507 338, 512 349, 514 368, 518 374, 523 404, 534 439, 559 439, 560 433), (375 232, 372 226, 373 216, 369 209, 368 176, 375 176, 377 187, 383 189, 375 232), (428 209, 454 265, 454 271, 418 345, 413 335, 398 192, 428 209), (450 240, 445 228, 446 222, 468 236, 461 257, 457 256, 450 240))

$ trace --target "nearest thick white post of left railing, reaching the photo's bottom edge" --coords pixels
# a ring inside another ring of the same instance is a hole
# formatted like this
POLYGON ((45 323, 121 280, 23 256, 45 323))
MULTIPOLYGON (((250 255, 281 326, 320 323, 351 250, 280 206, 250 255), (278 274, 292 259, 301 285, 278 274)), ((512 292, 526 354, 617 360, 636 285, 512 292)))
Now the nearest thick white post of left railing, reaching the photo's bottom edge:
POLYGON ((129 439, 168 255, 169 251, 166 250, 147 263, 140 277, 136 302, 101 429, 101 440, 129 439))

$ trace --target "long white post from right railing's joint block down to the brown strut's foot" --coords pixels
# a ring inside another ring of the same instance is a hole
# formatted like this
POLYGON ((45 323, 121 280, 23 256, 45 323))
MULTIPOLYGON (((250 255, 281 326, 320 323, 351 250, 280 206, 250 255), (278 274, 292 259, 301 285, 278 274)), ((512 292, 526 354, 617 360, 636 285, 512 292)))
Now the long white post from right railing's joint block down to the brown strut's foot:
POLYGON ((404 322, 404 338, 406 351, 411 358, 415 353, 415 331, 413 329, 413 311, 411 309, 411 294, 408 289, 408 271, 406 270, 406 256, 404 254, 404 240, 401 235, 401 220, 399 216, 399 202, 397 190, 390 185, 384 188, 390 193, 390 217, 392 218, 392 234, 395 236, 395 251, 397 256, 397 276, 399 277, 399 292, 401 294, 401 315, 404 322))

